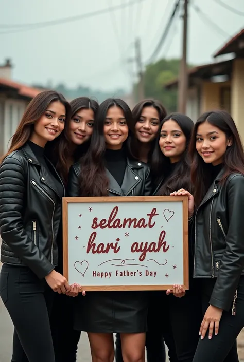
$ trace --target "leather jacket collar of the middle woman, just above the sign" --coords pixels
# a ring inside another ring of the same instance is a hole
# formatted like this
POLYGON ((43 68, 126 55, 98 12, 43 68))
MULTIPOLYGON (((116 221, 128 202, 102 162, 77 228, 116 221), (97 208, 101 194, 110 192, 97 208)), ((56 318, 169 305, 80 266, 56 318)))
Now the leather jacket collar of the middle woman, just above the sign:
POLYGON ((138 183, 140 183, 142 180, 142 178, 137 173, 137 170, 141 168, 143 168, 142 162, 130 160, 127 158, 124 179, 121 187, 106 168, 106 175, 109 179, 108 191, 119 196, 128 196, 135 186, 138 185, 138 183))

